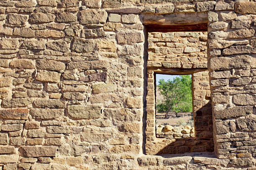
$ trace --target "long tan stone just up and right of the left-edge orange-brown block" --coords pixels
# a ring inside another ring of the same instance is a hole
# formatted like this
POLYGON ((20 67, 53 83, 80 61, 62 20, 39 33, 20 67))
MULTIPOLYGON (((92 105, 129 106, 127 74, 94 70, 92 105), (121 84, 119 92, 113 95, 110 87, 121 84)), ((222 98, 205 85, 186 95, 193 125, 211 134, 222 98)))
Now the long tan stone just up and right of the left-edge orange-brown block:
MULTIPOLYGON (((47 100, 47 99, 37 99, 34 101, 34 105, 36 107, 41 107, 41 108, 65 108, 65 101, 61 100, 47 100)), ((46 111, 46 110, 45 110, 46 111)), ((54 111, 54 110, 52 110, 54 111)))

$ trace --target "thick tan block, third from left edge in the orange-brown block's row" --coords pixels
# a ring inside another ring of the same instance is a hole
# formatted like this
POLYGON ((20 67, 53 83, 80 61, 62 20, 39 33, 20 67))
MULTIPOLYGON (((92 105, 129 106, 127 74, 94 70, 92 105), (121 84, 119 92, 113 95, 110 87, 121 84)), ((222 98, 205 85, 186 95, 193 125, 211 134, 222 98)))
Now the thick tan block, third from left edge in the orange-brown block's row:
POLYGON ((97 105, 69 105, 68 113, 70 117, 78 119, 97 119, 102 117, 101 106, 97 105))

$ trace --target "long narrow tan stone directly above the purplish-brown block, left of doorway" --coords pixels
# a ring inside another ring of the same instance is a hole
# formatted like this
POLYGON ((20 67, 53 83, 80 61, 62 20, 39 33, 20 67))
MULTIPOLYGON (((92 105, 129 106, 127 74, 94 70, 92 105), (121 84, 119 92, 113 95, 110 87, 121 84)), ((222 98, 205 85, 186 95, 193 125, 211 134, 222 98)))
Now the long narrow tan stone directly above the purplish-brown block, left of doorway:
POLYGON ((109 61, 97 60, 97 61, 77 61, 69 62, 69 69, 81 69, 81 70, 97 70, 110 67, 109 61))

